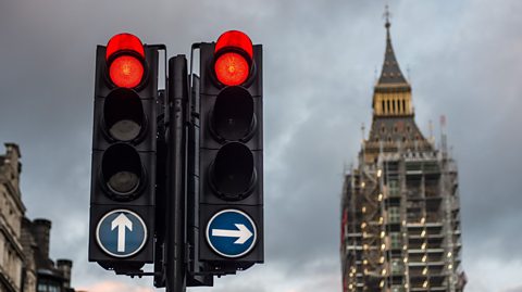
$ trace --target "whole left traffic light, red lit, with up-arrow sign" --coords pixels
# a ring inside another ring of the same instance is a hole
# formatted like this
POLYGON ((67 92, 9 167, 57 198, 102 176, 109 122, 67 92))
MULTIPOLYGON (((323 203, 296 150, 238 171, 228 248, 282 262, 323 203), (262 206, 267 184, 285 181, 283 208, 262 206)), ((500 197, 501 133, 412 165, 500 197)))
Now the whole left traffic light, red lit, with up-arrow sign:
POLYGON ((89 261, 116 272, 153 262, 158 55, 130 34, 97 48, 89 261))

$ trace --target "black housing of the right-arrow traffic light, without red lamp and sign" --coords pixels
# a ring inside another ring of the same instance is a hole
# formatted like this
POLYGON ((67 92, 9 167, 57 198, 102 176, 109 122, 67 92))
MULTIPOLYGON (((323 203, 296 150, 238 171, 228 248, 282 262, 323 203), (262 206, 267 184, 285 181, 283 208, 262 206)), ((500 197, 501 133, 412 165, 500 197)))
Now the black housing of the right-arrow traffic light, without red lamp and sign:
POLYGON ((225 46, 217 52, 215 48, 216 43, 200 43, 199 202, 195 223, 198 259, 219 275, 264 261, 263 113, 262 46, 252 47, 250 60, 240 48, 225 46), (227 52, 240 52, 250 61, 248 78, 238 85, 227 86, 216 76, 216 59, 227 52), (220 255, 206 234, 209 220, 224 210, 243 212, 256 224, 254 246, 239 257, 220 255))

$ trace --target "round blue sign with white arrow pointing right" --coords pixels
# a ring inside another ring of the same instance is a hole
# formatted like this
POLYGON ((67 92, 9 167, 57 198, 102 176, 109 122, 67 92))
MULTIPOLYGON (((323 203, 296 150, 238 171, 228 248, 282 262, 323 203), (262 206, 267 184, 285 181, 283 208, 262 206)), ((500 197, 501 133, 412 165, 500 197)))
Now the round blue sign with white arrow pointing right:
POLYGON ((217 212, 207 224, 207 242, 219 255, 239 257, 252 250, 257 241, 253 220, 238 210, 217 212))

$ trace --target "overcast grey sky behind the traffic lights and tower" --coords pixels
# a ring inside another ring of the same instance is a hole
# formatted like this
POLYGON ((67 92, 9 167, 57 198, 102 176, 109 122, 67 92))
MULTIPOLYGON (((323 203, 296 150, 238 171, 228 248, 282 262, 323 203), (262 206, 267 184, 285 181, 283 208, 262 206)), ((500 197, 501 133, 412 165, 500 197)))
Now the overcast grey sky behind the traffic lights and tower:
MULTIPOLYGON (((447 117, 459 165, 468 291, 522 291, 522 1, 388 1, 415 119, 447 117), (408 69, 409 68, 409 69, 408 69)), ((0 142, 22 151, 29 218, 52 220, 51 257, 73 285, 150 291, 87 262, 96 45, 117 33, 169 55, 240 29, 264 48, 265 264, 215 292, 340 291, 339 200, 371 124, 385 1, 0 2, 0 142)), ((0 150, 3 153, 4 150, 0 150)))

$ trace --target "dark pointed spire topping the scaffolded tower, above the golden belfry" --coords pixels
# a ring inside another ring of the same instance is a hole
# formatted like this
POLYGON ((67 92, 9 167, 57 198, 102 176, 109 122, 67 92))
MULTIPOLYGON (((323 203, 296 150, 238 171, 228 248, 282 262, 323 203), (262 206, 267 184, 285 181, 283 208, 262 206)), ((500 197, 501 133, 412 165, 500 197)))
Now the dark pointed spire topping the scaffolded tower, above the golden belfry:
POLYGON ((381 77, 378 78, 377 85, 388 85, 388 84, 403 84, 408 85, 402 72, 400 72, 399 63, 395 58, 394 47, 391 46, 391 38, 389 36, 389 12, 386 11, 386 51, 384 52, 384 63, 383 69, 381 71, 381 77))

